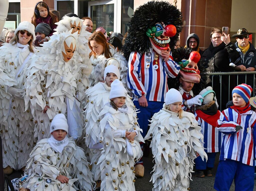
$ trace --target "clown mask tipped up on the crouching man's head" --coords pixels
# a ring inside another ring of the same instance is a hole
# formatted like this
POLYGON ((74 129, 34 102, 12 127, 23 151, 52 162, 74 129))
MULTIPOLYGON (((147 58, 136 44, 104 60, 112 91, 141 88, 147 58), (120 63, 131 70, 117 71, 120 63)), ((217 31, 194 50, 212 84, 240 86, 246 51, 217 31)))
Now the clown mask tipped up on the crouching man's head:
POLYGON ((198 70, 197 63, 200 60, 199 52, 193 51, 189 55, 188 60, 182 60, 178 62, 180 65, 180 77, 184 81, 190 81, 198 84, 200 82, 200 71, 198 70))

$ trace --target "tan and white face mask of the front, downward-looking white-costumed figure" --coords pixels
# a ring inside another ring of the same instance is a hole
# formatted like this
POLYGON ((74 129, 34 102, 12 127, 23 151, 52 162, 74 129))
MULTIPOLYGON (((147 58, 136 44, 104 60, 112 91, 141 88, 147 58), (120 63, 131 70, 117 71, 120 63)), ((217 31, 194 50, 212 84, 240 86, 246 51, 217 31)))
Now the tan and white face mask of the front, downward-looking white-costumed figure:
POLYGON ((62 58, 65 62, 68 62, 74 55, 76 50, 76 39, 72 36, 67 37, 64 40, 63 46, 61 48, 62 58))

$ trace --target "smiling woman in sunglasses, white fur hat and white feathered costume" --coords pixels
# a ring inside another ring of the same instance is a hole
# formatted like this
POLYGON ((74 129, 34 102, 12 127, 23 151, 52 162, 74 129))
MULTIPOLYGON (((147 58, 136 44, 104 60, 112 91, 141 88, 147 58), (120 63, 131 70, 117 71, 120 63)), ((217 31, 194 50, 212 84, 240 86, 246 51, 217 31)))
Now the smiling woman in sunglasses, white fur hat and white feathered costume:
POLYGON ((35 26, 23 21, 14 34, 10 44, 0 48, 0 135, 6 173, 26 166, 34 143, 33 117, 30 111, 24 112, 23 93, 26 63, 37 52, 35 26))

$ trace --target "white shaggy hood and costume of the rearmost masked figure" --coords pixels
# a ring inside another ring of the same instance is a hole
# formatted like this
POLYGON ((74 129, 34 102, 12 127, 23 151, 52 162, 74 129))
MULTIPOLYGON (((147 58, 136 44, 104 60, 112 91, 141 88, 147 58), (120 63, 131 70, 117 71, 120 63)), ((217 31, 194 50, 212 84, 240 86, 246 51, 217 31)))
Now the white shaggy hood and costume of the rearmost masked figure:
MULTIPOLYGON (((64 16, 59 22, 55 24, 57 24, 58 26, 56 29, 54 29, 56 32, 54 32, 53 34, 62 33, 67 30, 70 31, 72 30, 71 25, 81 26, 81 30, 78 33, 77 47, 76 52, 74 53, 74 58, 78 60, 80 59, 80 57, 82 58, 82 63, 87 66, 85 69, 83 69, 82 73, 85 74, 88 78, 92 72, 92 63, 89 59, 89 53, 91 52, 91 49, 88 45, 88 39, 92 33, 89 33, 85 30, 86 26, 83 25, 83 20, 79 19, 78 17, 64 16)), ((87 86, 88 88, 90 87, 89 79, 87 86)))

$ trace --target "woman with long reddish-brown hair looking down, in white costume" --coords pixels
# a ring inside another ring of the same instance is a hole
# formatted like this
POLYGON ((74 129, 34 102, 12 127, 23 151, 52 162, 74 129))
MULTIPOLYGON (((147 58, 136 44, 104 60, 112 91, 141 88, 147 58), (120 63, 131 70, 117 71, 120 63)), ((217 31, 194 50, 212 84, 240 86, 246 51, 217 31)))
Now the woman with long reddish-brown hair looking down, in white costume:
POLYGON ((115 50, 115 48, 106 41, 104 34, 100 31, 95 31, 88 40, 89 48, 91 52, 89 58, 92 62, 92 73, 90 77, 91 86, 95 85, 98 81, 95 80, 94 68, 100 61, 108 58, 115 58, 119 62, 119 71, 121 74, 122 83, 126 84, 127 74, 127 61, 124 56, 115 50))

